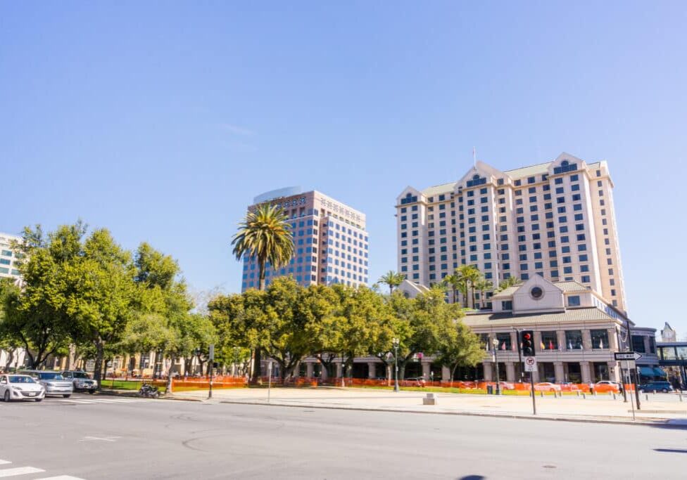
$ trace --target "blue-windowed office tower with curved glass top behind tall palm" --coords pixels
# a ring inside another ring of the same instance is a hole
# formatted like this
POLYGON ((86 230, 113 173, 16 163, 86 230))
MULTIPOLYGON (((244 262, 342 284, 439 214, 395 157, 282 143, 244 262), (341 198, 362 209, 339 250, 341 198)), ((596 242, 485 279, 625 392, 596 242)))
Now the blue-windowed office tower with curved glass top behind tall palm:
MULTIPOLYGON (((294 257, 281 268, 267 264, 266 285, 284 275, 292 275, 304 286, 367 284, 365 214, 317 190, 303 193, 300 187, 258 195, 248 211, 265 202, 284 209, 294 234, 294 257)), ((257 287, 258 262, 246 258, 241 292, 257 287)))

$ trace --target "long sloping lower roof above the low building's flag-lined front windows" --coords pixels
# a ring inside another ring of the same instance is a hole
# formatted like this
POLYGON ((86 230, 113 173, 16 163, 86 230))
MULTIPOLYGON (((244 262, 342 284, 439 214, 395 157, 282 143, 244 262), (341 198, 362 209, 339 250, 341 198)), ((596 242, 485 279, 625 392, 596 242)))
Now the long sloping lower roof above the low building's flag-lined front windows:
POLYGON ((508 325, 540 325, 544 323, 560 322, 591 322, 591 321, 617 321, 607 313, 596 307, 584 309, 567 309, 553 313, 524 313, 521 315, 506 312, 499 313, 468 313, 463 319, 469 327, 508 326, 508 325))

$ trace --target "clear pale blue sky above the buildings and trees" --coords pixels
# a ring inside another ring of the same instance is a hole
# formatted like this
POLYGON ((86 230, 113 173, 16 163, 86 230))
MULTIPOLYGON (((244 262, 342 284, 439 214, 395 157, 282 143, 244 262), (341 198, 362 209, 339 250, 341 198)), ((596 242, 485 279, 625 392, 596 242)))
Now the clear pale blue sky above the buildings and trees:
POLYGON ((683 2, 3 2, 0 231, 84 219, 240 287, 253 196, 316 188, 367 214, 566 151, 607 160, 629 313, 687 335, 683 2))

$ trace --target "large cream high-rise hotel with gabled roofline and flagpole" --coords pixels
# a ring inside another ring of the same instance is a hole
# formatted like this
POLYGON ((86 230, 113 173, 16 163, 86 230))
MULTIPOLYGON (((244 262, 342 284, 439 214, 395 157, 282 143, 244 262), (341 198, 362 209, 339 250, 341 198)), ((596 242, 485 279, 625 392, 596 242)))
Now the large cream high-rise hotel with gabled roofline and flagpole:
POLYGON ((472 264, 493 285, 510 276, 576 280, 626 310, 606 162, 567 153, 499 171, 476 162, 462 179, 396 200, 398 271, 421 285, 472 264))

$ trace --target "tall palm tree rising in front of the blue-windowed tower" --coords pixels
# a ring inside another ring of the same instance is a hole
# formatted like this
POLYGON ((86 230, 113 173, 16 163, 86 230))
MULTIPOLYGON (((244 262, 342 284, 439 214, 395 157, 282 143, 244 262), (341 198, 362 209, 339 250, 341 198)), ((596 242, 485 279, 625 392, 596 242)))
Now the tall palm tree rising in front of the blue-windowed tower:
POLYGON ((237 260, 255 257, 258 261, 258 290, 265 290, 265 265, 280 268, 294 255, 294 235, 289 217, 281 208, 264 203, 248 212, 234 235, 234 255, 237 260))

